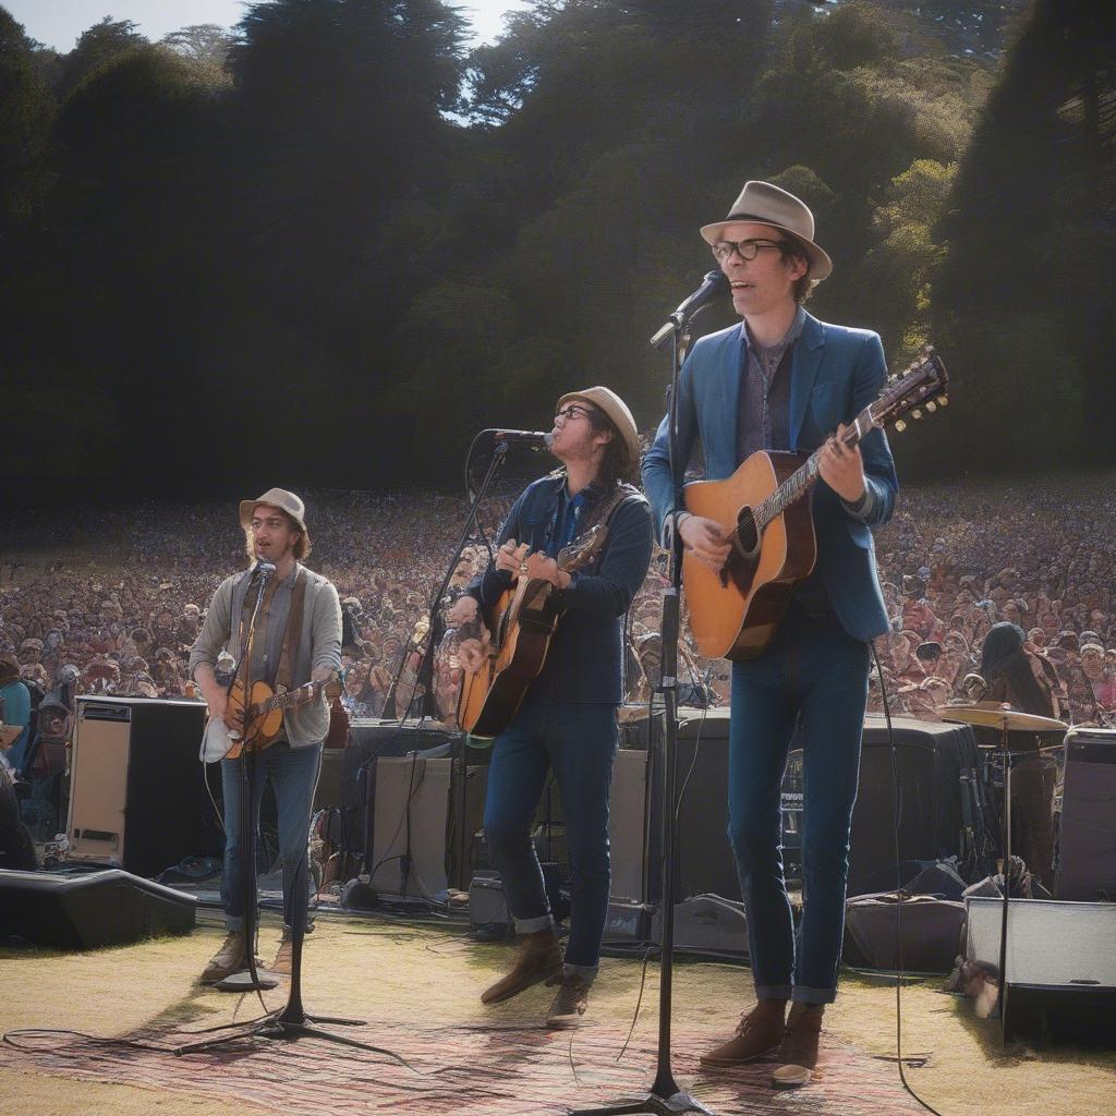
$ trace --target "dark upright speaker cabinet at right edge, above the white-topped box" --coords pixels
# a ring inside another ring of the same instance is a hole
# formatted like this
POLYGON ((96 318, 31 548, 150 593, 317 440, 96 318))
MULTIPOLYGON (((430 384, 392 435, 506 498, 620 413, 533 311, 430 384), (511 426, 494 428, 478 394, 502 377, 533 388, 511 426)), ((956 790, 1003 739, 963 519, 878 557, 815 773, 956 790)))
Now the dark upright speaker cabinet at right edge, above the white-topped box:
POLYGON ((1116 899, 1116 730, 1066 735, 1056 894, 1116 899))

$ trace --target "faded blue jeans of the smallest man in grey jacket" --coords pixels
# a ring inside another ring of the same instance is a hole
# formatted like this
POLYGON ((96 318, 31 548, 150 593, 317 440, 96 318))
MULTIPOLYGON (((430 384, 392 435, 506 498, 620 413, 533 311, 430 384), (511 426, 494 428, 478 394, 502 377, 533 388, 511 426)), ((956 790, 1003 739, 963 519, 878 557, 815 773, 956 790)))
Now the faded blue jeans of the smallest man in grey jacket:
MULTIPOLYGON (((260 800, 263 785, 271 780, 279 817, 279 856, 282 860, 282 921, 295 925, 295 913, 301 912, 306 929, 306 912, 310 894, 310 809, 318 781, 321 744, 291 748, 272 744, 258 752, 253 760, 251 786, 251 825, 259 840, 260 800), (296 875, 297 873, 297 875, 296 875)), ((224 873, 221 876, 221 902, 230 933, 244 925, 241 884, 240 785, 242 759, 221 761, 221 788, 224 793, 224 873)), ((252 888, 256 887, 254 865, 252 888)))

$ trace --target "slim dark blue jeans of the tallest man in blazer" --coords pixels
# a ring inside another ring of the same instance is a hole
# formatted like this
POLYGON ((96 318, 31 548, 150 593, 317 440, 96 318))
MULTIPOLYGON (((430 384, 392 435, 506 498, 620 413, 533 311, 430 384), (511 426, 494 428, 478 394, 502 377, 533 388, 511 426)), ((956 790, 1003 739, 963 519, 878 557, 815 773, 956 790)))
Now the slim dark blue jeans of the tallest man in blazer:
POLYGON ((860 769, 868 645, 791 604, 763 655, 732 666, 729 841, 748 913, 756 994, 831 1003, 845 929, 848 836, 860 769), (782 777, 801 728, 801 940, 782 869, 782 777))

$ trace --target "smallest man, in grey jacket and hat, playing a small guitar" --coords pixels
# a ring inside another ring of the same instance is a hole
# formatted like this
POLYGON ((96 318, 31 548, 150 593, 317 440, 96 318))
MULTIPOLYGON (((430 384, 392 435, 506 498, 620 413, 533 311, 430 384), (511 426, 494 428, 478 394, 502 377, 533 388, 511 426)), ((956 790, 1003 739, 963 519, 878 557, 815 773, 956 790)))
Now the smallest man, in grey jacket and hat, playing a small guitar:
MULTIPOLYGON (((285 489, 269 489, 256 500, 241 502, 240 526, 249 560, 271 562, 276 568, 256 622, 249 663, 251 680, 263 681, 272 690, 328 681, 340 667, 341 610, 333 584, 301 562, 310 552, 302 501, 285 489)), ((209 715, 223 718, 235 729, 242 727, 228 709, 228 689, 218 682, 214 667, 223 650, 241 666, 242 643, 256 604, 256 593, 251 590, 257 585, 254 566, 225 578, 210 602, 205 623, 190 651, 190 676, 201 689, 209 715)), ((263 785, 270 780, 279 821, 283 904, 283 936, 271 968, 289 973, 296 917, 301 920, 301 929, 306 929, 310 808, 321 744, 329 731, 325 694, 286 710, 282 721, 278 741, 256 757, 250 825, 258 824, 263 785)), ((202 973, 204 984, 218 983, 243 969, 248 961, 240 891, 241 762, 239 758, 221 762, 225 828, 221 901, 229 933, 202 973)))

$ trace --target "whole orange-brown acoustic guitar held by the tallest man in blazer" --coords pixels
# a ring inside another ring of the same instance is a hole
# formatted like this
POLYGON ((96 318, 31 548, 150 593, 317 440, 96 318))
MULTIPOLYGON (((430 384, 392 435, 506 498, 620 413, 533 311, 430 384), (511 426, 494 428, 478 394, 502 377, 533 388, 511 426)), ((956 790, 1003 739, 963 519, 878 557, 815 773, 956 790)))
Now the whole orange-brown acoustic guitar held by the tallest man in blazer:
MULTIPOLYGON (((926 356, 888 382, 879 397, 849 425, 844 444, 856 445, 875 427, 922 407, 944 406, 949 378, 941 359, 926 356)), ((713 571, 685 551, 682 581, 690 629, 708 658, 758 657, 775 636, 796 581, 817 560, 810 503, 804 500, 818 478, 820 450, 809 456, 766 452, 749 456, 722 481, 695 481, 683 489, 686 510, 721 525, 732 543, 724 566, 713 571)))

